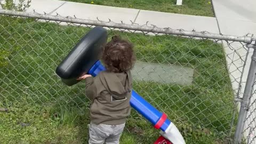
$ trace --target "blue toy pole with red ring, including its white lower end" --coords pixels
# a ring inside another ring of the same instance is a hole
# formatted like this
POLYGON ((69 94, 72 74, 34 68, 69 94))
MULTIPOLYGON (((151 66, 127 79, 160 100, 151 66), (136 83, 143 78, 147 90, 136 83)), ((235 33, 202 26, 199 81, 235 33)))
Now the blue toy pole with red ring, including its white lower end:
MULTIPOLYGON (((105 70, 105 67, 101 65, 100 61, 97 61, 88 71, 88 74, 97 76, 102 70, 105 70)), ((158 111, 155 107, 150 105, 149 102, 140 97, 140 95, 135 91, 132 91, 130 104, 131 107, 137 110, 143 117, 153 124, 155 129, 162 130, 161 135, 163 137, 170 140, 174 144, 185 143, 179 130, 169 119, 167 119, 166 114, 158 111)))

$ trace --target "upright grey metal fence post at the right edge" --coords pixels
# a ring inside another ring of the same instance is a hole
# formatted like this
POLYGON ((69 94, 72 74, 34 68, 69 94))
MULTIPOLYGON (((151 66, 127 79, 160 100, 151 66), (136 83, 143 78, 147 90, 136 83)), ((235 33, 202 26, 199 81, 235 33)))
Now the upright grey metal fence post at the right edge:
POLYGON ((255 82, 255 74, 256 74, 256 45, 247 44, 246 46, 248 48, 253 48, 254 50, 252 54, 252 61, 249 68, 249 73, 248 73, 246 84, 245 84, 243 98, 238 100, 239 102, 241 102, 241 107, 238 115, 238 123, 236 126, 234 143, 241 143, 241 140, 242 140, 244 122, 246 119, 248 106, 250 104, 249 100, 250 100, 250 96, 252 95, 252 88, 255 82))

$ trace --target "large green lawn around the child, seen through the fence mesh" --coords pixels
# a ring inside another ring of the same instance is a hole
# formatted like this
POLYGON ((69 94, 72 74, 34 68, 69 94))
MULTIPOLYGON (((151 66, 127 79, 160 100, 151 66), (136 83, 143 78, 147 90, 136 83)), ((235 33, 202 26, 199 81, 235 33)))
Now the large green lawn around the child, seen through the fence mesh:
MULTIPOLYGON (((0 143, 86 143, 90 101, 84 84, 63 85, 55 68, 90 28, 1 19, 0 108, 10 111, 0 112, 0 143)), ((139 61, 193 68, 192 85, 134 81, 133 89, 164 111, 187 143, 226 143, 235 107, 220 44, 108 32, 130 39, 139 61)), ((134 110, 126 128, 121 143, 153 143, 159 136, 134 110)))

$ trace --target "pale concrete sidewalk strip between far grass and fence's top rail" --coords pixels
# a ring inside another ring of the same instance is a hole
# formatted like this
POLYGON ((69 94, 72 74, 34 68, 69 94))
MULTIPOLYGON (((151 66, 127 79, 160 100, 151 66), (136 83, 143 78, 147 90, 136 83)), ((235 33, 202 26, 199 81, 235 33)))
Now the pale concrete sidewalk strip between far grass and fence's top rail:
POLYGON ((172 29, 209 31, 219 34, 219 28, 216 18, 201 17, 195 15, 145 11, 137 9, 127 9, 122 7, 102 6, 93 4, 83 4, 74 2, 65 2, 58 0, 32 0, 28 12, 35 10, 38 13, 60 14, 81 19, 111 21, 139 25, 155 25, 157 27, 170 27, 172 29))

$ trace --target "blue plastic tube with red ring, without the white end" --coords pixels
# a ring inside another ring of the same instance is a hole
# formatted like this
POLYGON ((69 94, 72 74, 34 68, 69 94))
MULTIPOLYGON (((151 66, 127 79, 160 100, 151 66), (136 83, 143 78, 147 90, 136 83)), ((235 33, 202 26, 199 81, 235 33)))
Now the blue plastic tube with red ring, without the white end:
MULTIPOLYGON (((106 70, 106 68, 101 65, 101 62, 98 60, 89 70, 88 74, 95 77, 102 70, 106 70)), ((137 110, 143 117, 145 117, 151 124, 153 124, 156 129, 165 131, 171 124, 171 121, 167 119, 167 116, 164 113, 161 113, 155 107, 150 105, 149 102, 140 97, 140 95, 135 91, 132 91, 130 104, 132 108, 137 110)))

